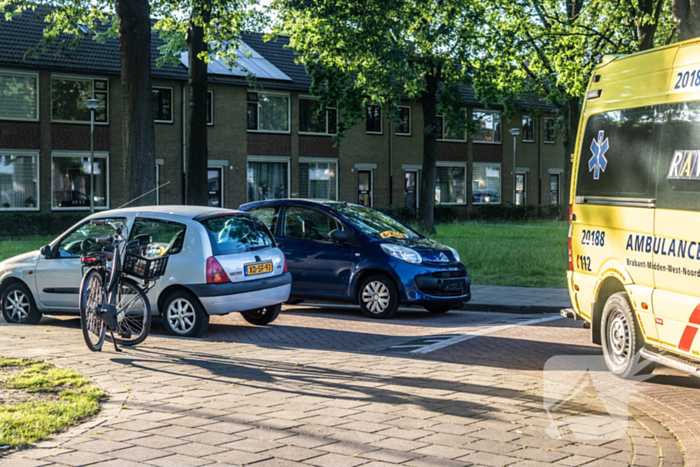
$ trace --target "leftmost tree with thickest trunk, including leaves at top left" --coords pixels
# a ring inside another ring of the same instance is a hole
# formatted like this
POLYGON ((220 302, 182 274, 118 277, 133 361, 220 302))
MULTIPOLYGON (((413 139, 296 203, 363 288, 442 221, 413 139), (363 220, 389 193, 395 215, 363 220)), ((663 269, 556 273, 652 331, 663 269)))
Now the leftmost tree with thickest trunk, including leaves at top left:
MULTIPOLYGON (((122 84, 124 186, 134 204, 155 204, 155 129, 151 97, 151 7, 148 0, 0 0, 7 20, 27 10, 47 12, 44 35, 30 54, 58 43, 76 48, 86 37, 119 36, 122 84), (146 194, 151 191, 150 194, 146 194), (144 196, 145 195, 145 196, 144 196)), ((27 13, 28 14, 28 13, 27 13)))

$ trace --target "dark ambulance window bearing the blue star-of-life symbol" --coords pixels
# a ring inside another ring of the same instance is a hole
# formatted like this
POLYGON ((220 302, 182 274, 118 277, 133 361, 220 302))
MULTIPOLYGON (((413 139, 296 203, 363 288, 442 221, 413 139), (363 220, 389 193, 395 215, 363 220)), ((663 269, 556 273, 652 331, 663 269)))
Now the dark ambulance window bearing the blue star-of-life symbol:
POLYGON ((577 196, 655 198, 654 107, 616 110, 588 119, 581 143, 577 196))

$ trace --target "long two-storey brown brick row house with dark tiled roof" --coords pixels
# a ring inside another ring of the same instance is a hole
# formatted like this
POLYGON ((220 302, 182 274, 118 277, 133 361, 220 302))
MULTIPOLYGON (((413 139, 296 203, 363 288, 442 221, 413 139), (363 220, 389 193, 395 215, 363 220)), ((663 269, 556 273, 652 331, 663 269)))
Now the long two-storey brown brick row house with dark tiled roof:
MULTIPOLYGON (((121 136, 122 88, 119 43, 85 39, 77 50, 56 48, 26 56, 43 30, 40 13, 0 20, 0 212, 76 211, 89 206, 90 113, 87 98, 97 98, 95 129, 95 204, 116 208, 125 199, 121 136)), ((333 147, 337 112, 319 118, 309 95, 310 78, 294 63, 287 40, 264 42, 244 34, 252 56, 241 56, 255 70, 260 89, 249 89, 240 70, 210 65, 209 202, 236 208, 272 197, 314 197, 373 206, 416 207, 422 163, 422 110, 418 102, 401 107, 403 123, 385 109, 367 108, 367 119, 333 147)), ((153 103, 160 204, 183 200, 187 68, 155 64, 153 103)), ((184 60, 186 63, 186 59, 184 60)), ((486 110, 463 90, 468 118, 481 131, 444 128, 437 146, 436 201, 461 211, 483 204, 513 202, 513 137, 516 146, 516 203, 560 203, 563 147, 552 129, 554 111, 537 103, 537 117, 511 121, 486 110)))

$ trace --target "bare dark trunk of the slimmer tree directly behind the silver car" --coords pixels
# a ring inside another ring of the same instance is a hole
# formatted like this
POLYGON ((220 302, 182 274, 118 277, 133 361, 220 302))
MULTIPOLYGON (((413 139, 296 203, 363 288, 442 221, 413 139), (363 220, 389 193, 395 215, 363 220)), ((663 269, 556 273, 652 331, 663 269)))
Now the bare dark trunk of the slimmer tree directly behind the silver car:
MULTIPOLYGON (((199 58, 206 52, 203 24, 211 17, 209 5, 205 2, 192 10, 187 29, 187 51, 189 66, 189 119, 187 120, 187 172, 185 177, 187 204, 206 206, 207 185, 207 64, 199 58)), ((223 207, 223 206, 221 206, 223 207)))

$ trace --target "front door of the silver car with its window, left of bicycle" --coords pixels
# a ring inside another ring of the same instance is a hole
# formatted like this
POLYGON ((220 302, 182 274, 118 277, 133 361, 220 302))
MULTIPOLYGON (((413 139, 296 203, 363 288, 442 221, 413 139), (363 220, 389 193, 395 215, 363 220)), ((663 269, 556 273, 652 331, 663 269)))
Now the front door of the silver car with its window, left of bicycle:
MULTIPOLYGON (((126 223, 125 218, 113 220, 126 223)), ((95 239, 113 234, 114 230, 108 225, 85 222, 59 242, 55 257, 41 257, 36 267, 36 286, 42 305, 57 311, 77 311, 83 278, 80 255, 101 250, 103 245, 97 244, 95 239)), ((111 248, 111 245, 105 247, 111 248)))

